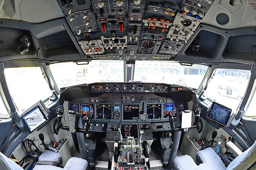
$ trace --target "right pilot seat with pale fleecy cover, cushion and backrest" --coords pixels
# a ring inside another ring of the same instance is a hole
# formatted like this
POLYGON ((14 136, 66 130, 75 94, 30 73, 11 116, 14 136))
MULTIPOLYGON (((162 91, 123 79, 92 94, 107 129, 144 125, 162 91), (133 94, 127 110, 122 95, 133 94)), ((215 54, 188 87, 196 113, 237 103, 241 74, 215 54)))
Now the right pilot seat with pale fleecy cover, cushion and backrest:
POLYGON ((175 158, 174 166, 177 170, 247 170, 256 162, 256 141, 249 149, 236 157, 228 167, 225 167, 212 148, 200 150, 196 157, 202 162, 198 166, 189 155, 175 158))

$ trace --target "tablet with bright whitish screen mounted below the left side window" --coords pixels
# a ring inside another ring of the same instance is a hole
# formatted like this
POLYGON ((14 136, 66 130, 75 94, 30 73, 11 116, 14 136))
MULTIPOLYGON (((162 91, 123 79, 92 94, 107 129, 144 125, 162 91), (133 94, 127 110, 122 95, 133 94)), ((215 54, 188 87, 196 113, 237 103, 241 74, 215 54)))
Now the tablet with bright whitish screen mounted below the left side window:
POLYGON ((22 121, 26 124, 29 132, 33 132, 36 128, 40 127, 44 122, 46 122, 47 118, 40 107, 36 106, 25 115, 22 115, 22 121))

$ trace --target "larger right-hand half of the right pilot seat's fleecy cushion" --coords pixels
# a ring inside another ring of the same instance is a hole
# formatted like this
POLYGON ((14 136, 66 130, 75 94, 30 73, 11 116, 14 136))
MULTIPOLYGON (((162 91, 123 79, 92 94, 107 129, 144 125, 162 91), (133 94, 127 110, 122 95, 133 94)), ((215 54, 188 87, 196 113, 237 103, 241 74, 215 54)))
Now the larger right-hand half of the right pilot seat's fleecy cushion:
POLYGON ((199 166, 201 168, 207 167, 208 170, 226 170, 224 163, 221 161, 221 157, 219 157, 212 148, 206 148, 200 150, 196 153, 196 157, 198 157, 203 163, 199 166))

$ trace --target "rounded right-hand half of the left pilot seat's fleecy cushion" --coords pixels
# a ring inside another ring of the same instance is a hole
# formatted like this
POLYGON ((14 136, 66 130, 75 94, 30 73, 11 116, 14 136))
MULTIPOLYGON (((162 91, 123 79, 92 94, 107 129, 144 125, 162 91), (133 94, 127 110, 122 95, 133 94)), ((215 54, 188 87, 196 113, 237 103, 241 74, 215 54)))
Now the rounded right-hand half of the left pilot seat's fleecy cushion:
POLYGON ((71 157, 67 162, 64 170, 86 170, 88 162, 78 157, 71 157))

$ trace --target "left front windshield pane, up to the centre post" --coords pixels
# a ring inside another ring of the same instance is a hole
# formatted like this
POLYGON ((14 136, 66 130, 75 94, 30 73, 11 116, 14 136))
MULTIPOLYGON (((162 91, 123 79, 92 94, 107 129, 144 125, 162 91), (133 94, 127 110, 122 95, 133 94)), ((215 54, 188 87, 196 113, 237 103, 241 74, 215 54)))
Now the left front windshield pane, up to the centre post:
POLYGON ((97 60, 89 64, 57 63, 49 66, 58 88, 95 82, 124 82, 124 61, 97 60))

